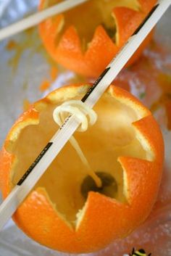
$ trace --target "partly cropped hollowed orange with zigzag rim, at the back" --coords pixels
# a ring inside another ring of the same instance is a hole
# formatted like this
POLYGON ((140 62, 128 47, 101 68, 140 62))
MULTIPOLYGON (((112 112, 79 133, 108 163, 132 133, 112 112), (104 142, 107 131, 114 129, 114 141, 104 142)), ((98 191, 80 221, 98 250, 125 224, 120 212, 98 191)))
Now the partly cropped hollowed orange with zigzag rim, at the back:
MULTIPOLYGON (((57 0, 41 0, 44 9, 57 0)), ((39 25, 43 45, 51 57, 69 70, 97 77, 133 34, 156 0, 91 0, 39 25)), ((152 32, 128 65, 140 57, 152 32)))

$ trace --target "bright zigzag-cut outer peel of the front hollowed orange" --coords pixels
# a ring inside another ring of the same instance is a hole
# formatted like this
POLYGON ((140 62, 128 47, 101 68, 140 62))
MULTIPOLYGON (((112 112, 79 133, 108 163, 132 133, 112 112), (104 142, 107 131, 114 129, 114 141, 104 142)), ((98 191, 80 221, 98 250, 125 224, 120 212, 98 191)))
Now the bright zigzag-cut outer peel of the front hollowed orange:
MULTIPOLYGON (((59 88, 36 104, 49 104, 54 97, 67 95, 77 91, 81 85, 59 88)), ((39 188, 30 192, 22 205, 15 212, 13 219, 25 234, 39 243, 62 252, 93 252, 99 250, 114 239, 123 238, 130 234, 149 215, 157 198, 162 176, 164 159, 164 144, 162 133, 151 112, 135 99, 134 96, 121 88, 110 86, 108 93, 115 99, 124 102, 141 114, 143 118, 133 123, 136 131, 141 133, 143 141, 147 141, 154 160, 141 160, 133 157, 119 157, 123 171, 127 176, 129 197, 128 203, 105 197, 96 192, 90 192, 87 207, 77 230, 60 218, 54 210, 46 192, 39 188)), ((33 104, 14 123, 0 154, 0 181, 3 196, 7 197, 12 188, 11 175, 14 155, 10 153, 9 141, 20 125, 38 122, 38 111, 33 104)))

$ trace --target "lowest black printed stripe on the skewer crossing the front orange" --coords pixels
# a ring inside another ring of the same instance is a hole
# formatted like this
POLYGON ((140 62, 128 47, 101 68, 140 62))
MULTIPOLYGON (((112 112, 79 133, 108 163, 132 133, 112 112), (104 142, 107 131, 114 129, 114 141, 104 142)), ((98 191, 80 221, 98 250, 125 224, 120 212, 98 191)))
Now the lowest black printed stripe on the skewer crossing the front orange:
POLYGON ((41 158, 43 157, 44 154, 46 154, 46 152, 48 151, 49 147, 53 144, 53 142, 49 142, 41 151, 41 153, 38 155, 38 157, 36 158, 36 160, 33 162, 32 165, 30 165, 30 168, 28 168, 28 170, 25 172, 25 174, 22 176, 22 178, 20 179, 20 181, 18 181, 17 185, 21 186, 22 182, 25 181, 25 178, 28 177, 28 175, 31 173, 31 171, 33 170, 33 168, 35 168, 35 166, 38 164, 38 162, 41 160, 41 158))

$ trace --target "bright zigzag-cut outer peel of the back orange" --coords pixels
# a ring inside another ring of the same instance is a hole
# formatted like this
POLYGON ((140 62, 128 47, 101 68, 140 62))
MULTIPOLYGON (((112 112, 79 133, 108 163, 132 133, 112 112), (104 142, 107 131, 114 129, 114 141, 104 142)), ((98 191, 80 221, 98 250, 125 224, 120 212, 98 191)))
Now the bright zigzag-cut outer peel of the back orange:
MULTIPOLYGON (((43 8, 44 1, 41 0, 40 9, 43 8)), ((127 7, 114 7, 112 15, 116 21, 118 33, 116 43, 109 38, 106 30, 99 25, 94 31, 88 49, 83 52, 77 30, 71 24, 64 31, 62 38, 57 44, 57 27, 62 19, 62 15, 59 15, 56 18, 54 17, 53 20, 49 18, 39 25, 43 45, 51 57, 67 69, 75 73, 96 78, 107 67, 117 52, 120 51, 135 29, 138 28, 144 17, 154 7, 156 0, 139 2, 141 4, 140 12, 127 7)), ((149 33, 149 36, 146 37, 138 50, 135 51, 127 66, 133 64, 141 56, 141 52, 149 44, 152 36, 153 33, 149 33)))

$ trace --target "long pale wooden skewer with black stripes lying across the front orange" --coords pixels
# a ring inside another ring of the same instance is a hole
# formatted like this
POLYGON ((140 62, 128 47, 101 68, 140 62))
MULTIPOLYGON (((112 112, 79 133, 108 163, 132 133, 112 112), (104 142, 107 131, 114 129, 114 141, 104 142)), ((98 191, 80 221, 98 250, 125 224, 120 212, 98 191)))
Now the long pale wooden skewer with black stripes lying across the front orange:
MULTIPOLYGON (((134 54, 138 46, 142 43, 144 38, 148 35, 154 25, 162 17, 164 12, 170 6, 171 0, 160 0, 156 6, 151 10, 142 24, 135 30, 133 36, 130 36, 128 42, 122 47, 117 57, 114 57, 112 62, 109 63, 100 77, 93 83, 93 86, 88 90, 83 97, 82 102, 85 102, 89 107, 93 107, 99 100, 100 96, 104 93, 112 80, 120 73, 122 67, 134 54)), ((33 186, 36 184, 39 178, 43 175, 46 169, 49 167, 54 158, 59 154, 64 144, 70 139, 72 134, 76 131, 80 125, 75 115, 70 115, 64 121, 64 124, 59 128, 57 133, 46 147, 38 155, 37 159, 28 168, 24 176, 20 179, 14 189, 12 189, 9 196, 2 202, 0 206, 0 229, 9 220, 12 214, 17 210, 17 207, 25 199, 33 186)))

